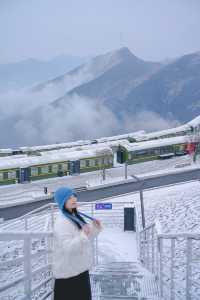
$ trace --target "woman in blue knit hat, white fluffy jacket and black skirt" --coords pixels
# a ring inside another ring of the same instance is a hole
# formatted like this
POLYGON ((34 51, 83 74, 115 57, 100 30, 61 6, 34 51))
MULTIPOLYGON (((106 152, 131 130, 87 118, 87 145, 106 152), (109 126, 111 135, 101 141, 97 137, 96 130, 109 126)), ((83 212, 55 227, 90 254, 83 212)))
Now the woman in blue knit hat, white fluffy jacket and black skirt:
POLYGON ((91 241, 101 231, 101 223, 84 215, 93 220, 86 223, 77 211, 77 194, 72 189, 59 188, 54 198, 60 208, 54 226, 54 300, 91 300, 91 241))

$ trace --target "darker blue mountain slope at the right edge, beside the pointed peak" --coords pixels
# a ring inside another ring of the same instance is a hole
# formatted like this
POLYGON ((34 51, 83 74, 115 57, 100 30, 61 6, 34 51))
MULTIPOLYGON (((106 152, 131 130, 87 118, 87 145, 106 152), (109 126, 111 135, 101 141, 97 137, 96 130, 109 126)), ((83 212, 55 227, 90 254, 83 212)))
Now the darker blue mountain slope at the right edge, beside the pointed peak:
POLYGON ((200 114, 200 52, 184 55, 152 75, 127 95, 131 113, 154 111, 181 123, 200 114))

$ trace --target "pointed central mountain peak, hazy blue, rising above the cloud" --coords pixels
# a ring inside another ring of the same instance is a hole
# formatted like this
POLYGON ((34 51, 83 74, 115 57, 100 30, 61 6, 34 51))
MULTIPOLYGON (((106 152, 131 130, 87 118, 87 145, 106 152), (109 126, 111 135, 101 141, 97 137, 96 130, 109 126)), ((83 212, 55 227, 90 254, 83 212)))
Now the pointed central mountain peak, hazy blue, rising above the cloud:
MULTIPOLYGON (((97 98, 99 101, 107 103, 108 106, 122 103, 129 91, 146 80, 162 65, 160 63, 146 62, 133 55, 128 48, 121 48, 115 52, 99 56, 93 60, 88 70, 93 71, 90 80, 82 82, 77 87, 67 91, 65 96, 53 102, 60 105, 68 99, 70 95, 76 94, 89 98, 97 98), (104 66, 101 72, 95 72, 96 61, 100 66, 104 66), (107 62, 105 64, 104 60, 107 62), (106 66, 106 67, 105 67, 106 66), (93 78, 92 78, 93 77, 93 78)), ((92 72, 91 72, 92 73, 92 72)))

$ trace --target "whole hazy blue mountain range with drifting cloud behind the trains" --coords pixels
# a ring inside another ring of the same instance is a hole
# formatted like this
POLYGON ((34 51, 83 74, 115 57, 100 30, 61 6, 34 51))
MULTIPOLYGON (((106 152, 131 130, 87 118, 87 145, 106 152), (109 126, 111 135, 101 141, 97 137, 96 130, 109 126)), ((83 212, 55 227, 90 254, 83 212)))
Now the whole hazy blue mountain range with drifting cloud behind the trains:
POLYGON ((200 52, 166 64, 121 48, 0 104, 8 146, 174 127, 200 115, 200 52))

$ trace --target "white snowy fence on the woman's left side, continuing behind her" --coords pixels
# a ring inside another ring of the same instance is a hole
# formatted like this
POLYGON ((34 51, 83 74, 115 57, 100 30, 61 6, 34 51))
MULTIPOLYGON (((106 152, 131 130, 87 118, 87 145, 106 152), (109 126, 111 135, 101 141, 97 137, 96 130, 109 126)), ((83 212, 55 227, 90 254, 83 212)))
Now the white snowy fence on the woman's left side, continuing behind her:
MULTIPOLYGON (((97 202, 98 203, 98 202, 97 202)), ((104 226, 124 226, 124 207, 133 202, 112 203, 112 210, 96 210, 97 203, 80 203, 80 210, 100 219, 104 226), (112 220, 111 220, 112 216, 112 220)), ((52 229, 58 209, 54 203, 0 224, 1 300, 50 300, 52 229)), ((93 261, 98 264, 98 240, 93 261)))

